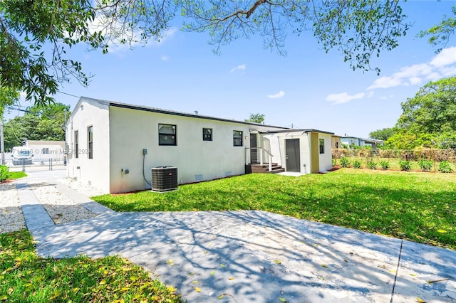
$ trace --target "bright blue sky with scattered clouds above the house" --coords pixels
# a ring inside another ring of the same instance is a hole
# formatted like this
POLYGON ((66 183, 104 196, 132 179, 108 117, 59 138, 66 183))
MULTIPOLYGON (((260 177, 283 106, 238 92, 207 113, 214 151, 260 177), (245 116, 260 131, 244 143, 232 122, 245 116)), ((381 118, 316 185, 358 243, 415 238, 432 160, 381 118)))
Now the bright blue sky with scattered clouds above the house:
MULTIPOLYGON (((413 22, 399 46, 380 53, 363 72, 326 53, 311 32, 289 33, 287 55, 264 49, 261 37, 233 41, 214 55, 207 33, 185 33, 176 23, 160 41, 130 50, 110 47, 108 55, 82 46, 70 52, 90 85, 66 83, 54 97, 71 105, 79 96, 244 121, 264 114, 265 124, 319 129, 352 137, 393 127, 401 102, 431 80, 456 75, 456 36, 439 54, 417 34, 451 15, 456 1, 408 1, 403 13, 413 22), (76 96, 76 97, 75 97, 76 96)), ((30 105, 21 100, 22 106, 30 105)), ((21 115, 12 111, 6 119, 21 115)))

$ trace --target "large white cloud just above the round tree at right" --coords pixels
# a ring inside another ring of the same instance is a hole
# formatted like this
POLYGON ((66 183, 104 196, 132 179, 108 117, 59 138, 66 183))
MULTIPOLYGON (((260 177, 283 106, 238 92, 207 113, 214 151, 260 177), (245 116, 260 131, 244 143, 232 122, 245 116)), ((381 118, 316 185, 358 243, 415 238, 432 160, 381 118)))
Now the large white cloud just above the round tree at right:
POLYGON ((456 46, 445 48, 429 63, 420 63, 400 68, 397 73, 383 76, 373 82, 367 90, 396 86, 419 85, 424 81, 439 80, 456 74, 456 46))

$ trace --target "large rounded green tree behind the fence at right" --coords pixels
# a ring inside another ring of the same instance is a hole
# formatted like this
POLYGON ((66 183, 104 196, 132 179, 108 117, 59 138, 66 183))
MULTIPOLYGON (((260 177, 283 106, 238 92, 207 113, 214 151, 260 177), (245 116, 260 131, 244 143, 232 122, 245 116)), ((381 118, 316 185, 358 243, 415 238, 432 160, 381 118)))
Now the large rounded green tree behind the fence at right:
POLYGON ((390 147, 456 148, 456 76, 427 83, 401 107, 390 147))

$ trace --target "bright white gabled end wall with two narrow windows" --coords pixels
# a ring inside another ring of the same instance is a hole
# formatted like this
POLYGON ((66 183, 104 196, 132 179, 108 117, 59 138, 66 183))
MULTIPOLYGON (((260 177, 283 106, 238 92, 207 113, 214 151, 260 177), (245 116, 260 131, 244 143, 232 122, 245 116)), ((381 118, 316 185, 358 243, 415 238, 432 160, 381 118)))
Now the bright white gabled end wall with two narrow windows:
POLYGON ((67 171, 70 178, 109 192, 108 105, 82 97, 66 124, 67 171), (93 159, 88 159, 88 127, 93 127, 93 159), (75 132, 78 131, 78 158, 75 132))

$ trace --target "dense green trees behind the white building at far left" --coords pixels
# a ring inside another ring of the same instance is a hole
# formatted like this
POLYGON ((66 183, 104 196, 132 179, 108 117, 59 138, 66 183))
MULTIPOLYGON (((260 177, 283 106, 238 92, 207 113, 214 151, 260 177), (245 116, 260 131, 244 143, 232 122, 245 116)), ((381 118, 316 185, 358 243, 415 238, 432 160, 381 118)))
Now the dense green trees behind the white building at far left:
POLYGON ((26 115, 9 119, 4 127, 5 149, 23 145, 24 139, 63 141, 65 110, 69 115, 69 105, 33 105, 26 115))

